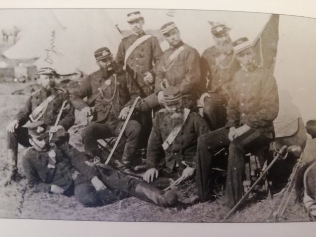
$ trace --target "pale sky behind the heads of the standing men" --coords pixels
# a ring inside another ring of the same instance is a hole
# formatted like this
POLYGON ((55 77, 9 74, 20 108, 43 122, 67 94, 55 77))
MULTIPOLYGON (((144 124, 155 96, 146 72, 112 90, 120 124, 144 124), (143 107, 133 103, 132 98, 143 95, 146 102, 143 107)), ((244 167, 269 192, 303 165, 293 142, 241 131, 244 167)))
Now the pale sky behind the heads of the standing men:
MULTIPOLYGON (((138 9, 111 9, 108 10, 113 22, 122 30, 130 30, 127 13, 138 9), (118 13, 119 12, 119 13, 118 13)), ((232 40, 248 37, 253 41, 268 22, 271 14, 227 12, 207 10, 153 10, 140 9, 145 18, 144 29, 160 29, 160 27, 173 21, 179 28, 183 42, 196 48, 200 54, 214 45, 209 21, 227 24, 231 30, 232 40)), ((165 50, 169 46, 164 41, 161 44, 165 50)))

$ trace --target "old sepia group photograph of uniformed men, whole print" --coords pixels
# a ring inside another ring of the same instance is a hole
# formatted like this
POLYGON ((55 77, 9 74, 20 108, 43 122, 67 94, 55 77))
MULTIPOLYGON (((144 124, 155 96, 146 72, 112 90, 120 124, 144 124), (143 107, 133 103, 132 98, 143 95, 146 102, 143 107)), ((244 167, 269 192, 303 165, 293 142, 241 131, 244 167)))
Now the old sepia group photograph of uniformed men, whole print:
POLYGON ((0 218, 316 218, 316 21, 0 10, 0 218))

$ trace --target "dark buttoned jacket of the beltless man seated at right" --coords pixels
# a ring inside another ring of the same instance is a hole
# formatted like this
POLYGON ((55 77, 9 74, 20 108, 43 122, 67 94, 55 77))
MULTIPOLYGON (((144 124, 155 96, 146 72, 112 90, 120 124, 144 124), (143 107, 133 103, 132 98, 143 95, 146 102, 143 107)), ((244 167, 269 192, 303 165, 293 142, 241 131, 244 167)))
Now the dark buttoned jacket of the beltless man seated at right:
POLYGON ((226 127, 248 125, 266 137, 273 136, 273 120, 279 112, 276 81, 266 68, 254 65, 239 70, 234 77, 232 97, 227 107, 226 127))

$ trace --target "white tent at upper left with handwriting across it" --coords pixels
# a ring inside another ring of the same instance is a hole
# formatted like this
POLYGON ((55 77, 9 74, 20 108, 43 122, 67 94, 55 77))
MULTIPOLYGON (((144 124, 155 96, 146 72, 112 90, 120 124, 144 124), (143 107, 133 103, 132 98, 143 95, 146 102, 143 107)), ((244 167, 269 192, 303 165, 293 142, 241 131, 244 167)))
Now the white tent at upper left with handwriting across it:
POLYGON ((121 35, 105 9, 34 10, 36 21, 24 37, 3 53, 9 59, 38 59, 37 68, 51 67, 61 75, 98 69, 93 52, 108 47, 114 54, 121 35), (39 11, 40 13, 38 13, 39 11))

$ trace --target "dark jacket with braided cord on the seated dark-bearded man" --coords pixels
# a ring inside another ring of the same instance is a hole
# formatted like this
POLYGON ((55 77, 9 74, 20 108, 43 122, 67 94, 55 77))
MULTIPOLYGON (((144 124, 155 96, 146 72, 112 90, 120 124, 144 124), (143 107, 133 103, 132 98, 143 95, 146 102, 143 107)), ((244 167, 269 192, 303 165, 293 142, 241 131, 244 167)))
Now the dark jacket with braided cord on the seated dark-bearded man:
POLYGON ((93 120, 98 122, 108 121, 108 117, 110 117, 111 120, 114 119, 118 121, 120 111, 125 106, 132 105, 140 93, 135 82, 130 78, 130 74, 126 71, 118 69, 116 70, 115 75, 116 76, 114 76, 113 73, 104 75, 99 70, 84 79, 81 82, 79 89, 74 90, 71 94, 71 101, 75 108, 82 110, 86 106, 91 106, 84 102, 83 98, 86 96, 90 97, 94 93, 100 93, 98 88, 109 79, 110 85, 103 90, 103 95, 100 94, 94 101, 95 112, 93 120), (112 97, 113 99, 111 100, 112 97), (109 113, 110 115, 114 115, 108 116, 109 113))

